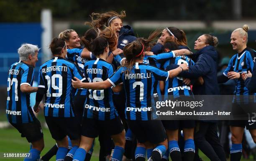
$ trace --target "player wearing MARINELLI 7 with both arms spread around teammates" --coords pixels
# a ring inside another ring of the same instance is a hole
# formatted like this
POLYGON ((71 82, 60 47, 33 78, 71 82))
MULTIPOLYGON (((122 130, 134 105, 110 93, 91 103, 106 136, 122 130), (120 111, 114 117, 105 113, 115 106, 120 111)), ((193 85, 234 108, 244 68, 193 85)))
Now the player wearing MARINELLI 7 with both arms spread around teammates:
POLYGON ((112 77, 103 82, 82 83, 79 79, 73 81, 75 88, 107 89, 123 82, 126 94, 125 117, 129 128, 146 148, 155 149, 149 160, 160 161, 167 148, 166 134, 160 120, 154 120, 154 106, 151 104, 153 84, 156 80, 167 80, 175 77, 183 70, 187 70, 187 64, 181 64, 177 69, 165 72, 154 66, 145 65, 144 39, 138 39, 124 47, 125 63, 112 77), (152 109, 153 108, 153 109, 152 109), (151 118, 153 120, 151 120, 151 118))

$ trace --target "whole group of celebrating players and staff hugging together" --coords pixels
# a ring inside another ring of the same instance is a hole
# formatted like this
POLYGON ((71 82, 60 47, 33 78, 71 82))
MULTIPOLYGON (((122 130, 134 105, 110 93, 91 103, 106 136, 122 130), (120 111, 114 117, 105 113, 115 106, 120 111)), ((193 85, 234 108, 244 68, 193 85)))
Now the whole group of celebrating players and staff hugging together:
MULTIPOLYGON (((168 161, 169 156, 172 161, 197 161, 198 148, 211 161, 226 161, 215 121, 159 120, 154 102, 163 100, 162 95, 175 100, 218 95, 218 83, 229 79, 237 80, 234 95, 253 95, 256 51, 246 46, 248 26, 231 34, 237 54, 217 77, 217 37, 203 34, 192 53, 179 28, 166 27, 148 38, 137 38, 131 26, 123 26, 123 17, 124 11, 92 13, 92 20, 85 23, 92 28, 81 38, 74 30, 53 38, 49 45, 53 58, 40 66, 38 87, 32 84, 39 48, 20 46, 20 61, 8 71, 6 114, 32 144, 31 157, 24 161, 49 161, 54 155, 56 161, 90 161, 97 137, 100 161, 145 161, 146 157, 168 161), (30 107, 32 92, 36 103, 30 107), (40 102, 56 141, 41 158, 44 137, 34 115, 40 102)), ((233 106, 244 105, 235 101, 233 106)), ((251 122, 255 120, 230 120, 230 161, 241 159, 245 127, 256 143, 256 124, 251 122)))

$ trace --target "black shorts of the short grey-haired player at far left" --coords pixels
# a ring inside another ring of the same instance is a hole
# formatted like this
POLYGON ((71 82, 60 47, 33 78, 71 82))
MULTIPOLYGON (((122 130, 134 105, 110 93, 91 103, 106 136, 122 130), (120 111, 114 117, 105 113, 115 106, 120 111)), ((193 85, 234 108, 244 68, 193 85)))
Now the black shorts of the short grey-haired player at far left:
POLYGON ((31 123, 10 123, 13 125, 20 133, 21 137, 26 137, 29 143, 39 141, 43 138, 44 134, 41 128, 41 124, 37 118, 31 123))

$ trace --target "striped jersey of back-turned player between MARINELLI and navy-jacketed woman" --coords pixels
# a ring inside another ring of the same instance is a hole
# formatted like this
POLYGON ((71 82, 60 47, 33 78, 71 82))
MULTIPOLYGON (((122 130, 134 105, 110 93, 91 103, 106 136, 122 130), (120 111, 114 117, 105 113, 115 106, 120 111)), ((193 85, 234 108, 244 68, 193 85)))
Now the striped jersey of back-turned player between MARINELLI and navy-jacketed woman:
MULTIPOLYGON (((164 69, 170 65, 170 64, 183 64, 186 63, 187 66, 192 66, 195 64, 192 59, 190 59, 188 56, 177 56, 176 58, 170 59, 166 61, 164 64, 164 69)), ((193 97, 193 92, 190 88, 190 86, 187 86, 183 83, 182 77, 174 77, 169 78, 166 81, 165 87, 164 87, 164 95, 173 95, 174 98, 180 97, 180 96, 188 96, 193 97)))

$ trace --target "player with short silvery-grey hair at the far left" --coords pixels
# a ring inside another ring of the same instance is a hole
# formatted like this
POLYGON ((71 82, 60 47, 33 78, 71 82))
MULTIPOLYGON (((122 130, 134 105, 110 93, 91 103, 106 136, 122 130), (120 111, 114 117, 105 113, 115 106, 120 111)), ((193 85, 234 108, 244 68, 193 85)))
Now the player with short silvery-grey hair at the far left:
POLYGON ((39 48, 32 44, 22 44, 18 49, 20 61, 12 64, 8 71, 6 115, 9 123, 32 144, 24 161, 36 161, 44 148, 44 138, 40 122, 30 107, 29 95, 38 87, 32 87, 34 67, 38 61, 39 48))

